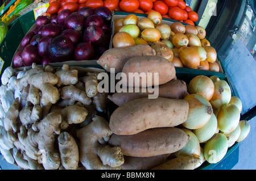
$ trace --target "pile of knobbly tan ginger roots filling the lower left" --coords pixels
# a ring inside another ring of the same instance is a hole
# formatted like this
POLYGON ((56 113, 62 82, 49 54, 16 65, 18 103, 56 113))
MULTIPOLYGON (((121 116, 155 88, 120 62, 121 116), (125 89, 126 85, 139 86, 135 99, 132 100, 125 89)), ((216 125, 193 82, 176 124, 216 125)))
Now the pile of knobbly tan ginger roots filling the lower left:
POLYGON ((36 64, 8 67, 0 87, 0 151, 20 169, 121 169, 121 148, 109 146, 108 94, 97 71, 36 64))

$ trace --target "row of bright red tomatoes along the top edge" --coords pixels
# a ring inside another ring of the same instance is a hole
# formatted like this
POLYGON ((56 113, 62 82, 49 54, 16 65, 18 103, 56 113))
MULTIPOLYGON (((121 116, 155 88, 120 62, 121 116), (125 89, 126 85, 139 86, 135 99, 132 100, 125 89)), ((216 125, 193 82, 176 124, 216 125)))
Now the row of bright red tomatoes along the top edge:
POLYGON ((138 12, 148 14, 158 11, 164 18, 194 24, 198 15, 183 0, 50 0, 48 15, 58 14, 63 9, 75 12, 81 7, 106 6, 112 11, 138 12))

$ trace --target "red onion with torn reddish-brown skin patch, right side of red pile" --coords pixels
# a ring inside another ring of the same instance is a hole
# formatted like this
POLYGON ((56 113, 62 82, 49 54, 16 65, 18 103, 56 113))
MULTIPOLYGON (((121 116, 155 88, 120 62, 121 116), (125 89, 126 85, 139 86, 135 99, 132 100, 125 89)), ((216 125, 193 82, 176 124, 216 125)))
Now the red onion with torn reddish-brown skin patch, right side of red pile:
POLYGON ((93 42, 100 39, 103 35, 101 27, 98 26, 88 26, 85 28, 83 40, 84 42, 93 42))

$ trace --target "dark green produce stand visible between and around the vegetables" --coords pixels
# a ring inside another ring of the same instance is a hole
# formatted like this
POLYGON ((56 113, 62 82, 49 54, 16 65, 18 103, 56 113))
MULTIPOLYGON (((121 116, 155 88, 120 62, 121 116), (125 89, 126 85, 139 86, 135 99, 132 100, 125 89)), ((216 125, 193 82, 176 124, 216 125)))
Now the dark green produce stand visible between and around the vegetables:
MULTIPOLYGON (((126 16, 127 12, 114 12, 113 14, 113 19, 120 17, 120 16, 126 16)), ((136 14, 139 18, 143 16, 147 16, 146 14, 139 14, 139 13, 134 13, 136 14)), ((167 22, 167 24, 170 24, 172 22, 176 22, 176 20, 170 20, 167 18, 163 18, 163 22, 167 22)), ((35 23, 35 16, 33 10, 30 10, 26 12, 26 14, 20 16, 18 19, 15 20, 15 22, 11 25, 11 28, 9 32, 7 33, 5 39, 3 40, 0 48, 0 57, 4 61, 4 64, 2 65, 2 70, 1 70, 1 75, 3 73, 3 70, 7 68, 7 66, 10 66, 12 64, 13 56, 14 53, 16 52, 16 49, 19 47, 20 41, 23 39, 24 35, 30 30, 30 28, 34 25, 35 23)), ((112 24, 113 26, 113 24, 112 24)), ((113 36, 113 35, 112 35, 113 36)), ((112 46, 112 41, 110 41, 110 47, 112 46)), ((178 79, 181 79, 185 82, 189 82, 193 77, 196 77, 197 75, 206 75, 206 76, 217 76, 220 79, 225 79, 225 81, 228 82, 228 79, 225 74, 225 68, 222 66, 221 62, 218 61, 219 66, 220 66, 220 72, 214 72, 214 71, 206 71, 206 70, 197 70, 197 69, 188 69, 188 68, 175 68, 176 69, 176 77, 178 79)), ((60 66, 63 63, 53 63, 51 65, 53 66, 60 66)), ((100 65, 97 64, 96 60, 93 61, 69 61, 69 65, 73 66, 83 66, 83 67, 94 67, 94 68, 100 68, 103 69, 100 65)), ((232 89, 232 87, 230 86, 232 89)), ((233 91, 232 91, 233 95, 233 91)), ((228 152, 226 153, 226 157, 228 157, 234 150, 236 150, 239 146, 239 143, 236 142, 232 147, 228 149, 228 152)), ((222 160, 223 160, 222 159, 222 160)), ((220 161, 221 162, 221 161, 220 161)), ((216 164, 210 164, 207 161, 203 163, 199 168, 199 170, 210 170, 216 164)))

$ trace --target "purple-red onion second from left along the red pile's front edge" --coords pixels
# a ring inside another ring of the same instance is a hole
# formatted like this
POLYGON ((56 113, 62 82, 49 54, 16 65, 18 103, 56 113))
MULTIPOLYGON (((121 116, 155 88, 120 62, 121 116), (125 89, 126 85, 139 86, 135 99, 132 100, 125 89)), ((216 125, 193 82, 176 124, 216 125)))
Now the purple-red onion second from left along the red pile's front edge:
POLYGON ((31 44, 27 45, 22 52, 22 60, 24 66, 31 66, 34 62, 40 62, 38 48, 31 44))

